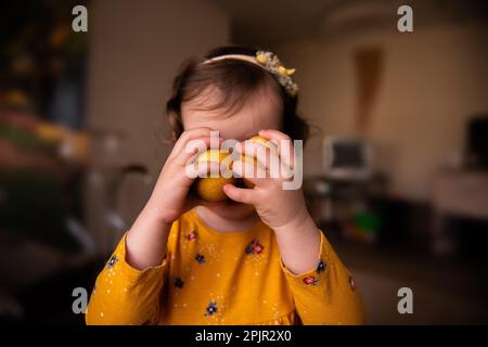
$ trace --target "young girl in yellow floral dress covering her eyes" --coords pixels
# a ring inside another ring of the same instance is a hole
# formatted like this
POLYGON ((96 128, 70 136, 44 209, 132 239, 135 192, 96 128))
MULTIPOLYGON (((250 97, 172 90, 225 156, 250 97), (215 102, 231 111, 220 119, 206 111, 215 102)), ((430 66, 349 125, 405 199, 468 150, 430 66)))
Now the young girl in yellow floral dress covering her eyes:
POLYGON ((226 184, 226 202, 206 203, 185 172, 194 155, 187 144, 209 144, 213 130, 237 141, 305 140, 292 73, 272 53, 242 47, 183 66, 167 102, 175 146, 97 279, 88 324, 363 323, 355 281, 301 190, 284 190, 281 177, 249 178, 253 188, 226 184))

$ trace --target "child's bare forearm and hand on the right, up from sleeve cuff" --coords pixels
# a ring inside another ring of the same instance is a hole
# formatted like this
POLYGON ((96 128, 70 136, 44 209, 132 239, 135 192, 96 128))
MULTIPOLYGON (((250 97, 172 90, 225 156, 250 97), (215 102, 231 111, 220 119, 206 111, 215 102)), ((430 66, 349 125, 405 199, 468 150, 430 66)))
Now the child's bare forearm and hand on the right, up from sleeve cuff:
MULTIPOLYGON (((273 153, 275 151, 269 149, 266 151, 267 160, 265 162, 269 163, 271 158, 278 160, 282 168, 280 170, 282 174, 286 174, 286 169, 293 170, 295 162, 293 145, 290 141, 291 147, 287 156, 284 155, 286 151, 283 151, 284 146, 280 141, 290 140, 290 138, 277 130, 259 131, 259 136, 268 140, 275 140, 279 143, 278 153, 273 153)), ((254 157, 256 156, 254 155, 254 157)), ((257 159, 259 160, 259 158, 257 159)), ((253 169, 256 169, 254 160, 246 159, 244 162, 245 165, 251 164, 253 169)), ((260 164, 269 171, 269 164, 262 162, 260 164)), ((242 165, 242 162, 234 162, 232 167, 235 174, 245 177, 243 168, 245 166, 242 165)), ((259 170, 259 164, 257 169, 259 170)), ((304 273, 317 266, 320 256, 320 232, 307 211, 301 190, 283 189, 283 182, 290 181, 290 176, 246 178, 255 184, 253 189, 242 189, 226 184, 223 191, 236 202, 254 205, 261 220, 274 231, 284 266, 292 273, 304 273)))

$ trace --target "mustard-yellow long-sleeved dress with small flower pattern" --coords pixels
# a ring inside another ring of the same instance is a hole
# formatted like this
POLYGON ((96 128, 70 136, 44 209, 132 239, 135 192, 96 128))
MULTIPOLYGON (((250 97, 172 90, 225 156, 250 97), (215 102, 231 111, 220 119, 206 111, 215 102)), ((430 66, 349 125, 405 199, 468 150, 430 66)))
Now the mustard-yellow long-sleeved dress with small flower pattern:
POLYGON ((355 281, 320 234, 317 266, 295 275, 265 223, 219 232, 190 210, 157 267, 132 268, 123 237, 97 279, 87 324, 361 324, 355 281))

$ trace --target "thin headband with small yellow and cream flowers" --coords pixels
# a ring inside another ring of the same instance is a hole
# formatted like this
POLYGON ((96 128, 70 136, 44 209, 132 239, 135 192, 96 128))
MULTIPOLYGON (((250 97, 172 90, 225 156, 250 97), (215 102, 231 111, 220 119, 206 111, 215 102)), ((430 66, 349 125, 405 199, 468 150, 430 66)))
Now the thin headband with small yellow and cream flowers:
POLYGON ((284 67, 274 53, 268 51, 257 51, 255 56, 245 54, 226 54, 211 57, 205 61, 204 64, 228 59, 246 61, 258 65, 269 73, 273 74, 278 82, 285 89, 288 95, 295 97, 298 93, 298 85, 295 83, 291 77, 293 73, 295 73, 295 68, 284 67))

